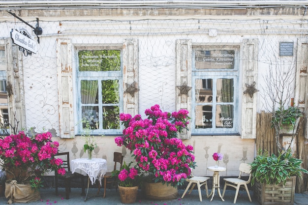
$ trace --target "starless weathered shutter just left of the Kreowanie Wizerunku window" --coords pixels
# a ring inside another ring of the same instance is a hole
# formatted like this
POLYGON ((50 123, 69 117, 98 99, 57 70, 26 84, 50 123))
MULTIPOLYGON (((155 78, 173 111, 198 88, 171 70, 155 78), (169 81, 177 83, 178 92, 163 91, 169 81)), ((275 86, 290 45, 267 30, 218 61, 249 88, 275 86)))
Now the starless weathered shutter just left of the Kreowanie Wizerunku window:
POLYGON ((60 137, 73 138, 75 133, 73 115, 72 43, 70 39, 57 39, 57 68, 60 137))

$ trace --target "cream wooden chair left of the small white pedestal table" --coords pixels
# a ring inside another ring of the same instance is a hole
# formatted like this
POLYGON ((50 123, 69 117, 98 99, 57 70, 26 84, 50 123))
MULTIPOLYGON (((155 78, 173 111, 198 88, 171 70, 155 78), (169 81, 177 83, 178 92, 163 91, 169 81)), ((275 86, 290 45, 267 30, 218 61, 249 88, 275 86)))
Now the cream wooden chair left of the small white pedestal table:
POLYGON ((197 185, 198 187, 198 193, 199 193, 199 199, 200 199, 200 202, 202 202, 202 195, 201 195, 201 186, 204 185, 205 186, 205 191, 206 191, 206 194, 207 194, 207 198, 209 198, 209 190, 208 190, 208 183, 207 183, 207 180, 209 179, 210 177, 208 176, 193 176, 192 174, 192 170, 191 170, 191 174, 190 174, 190 178, 186 178, 186 181, 188 181, 188 185, 182 195, 182 199, 184 198, 186 192, 188 191, 190 185, 192 184, 192 187, 190 189, 190 191, 188 192, 188 194, 191 193, 191 191, 193 190, 193 188, 197 185))

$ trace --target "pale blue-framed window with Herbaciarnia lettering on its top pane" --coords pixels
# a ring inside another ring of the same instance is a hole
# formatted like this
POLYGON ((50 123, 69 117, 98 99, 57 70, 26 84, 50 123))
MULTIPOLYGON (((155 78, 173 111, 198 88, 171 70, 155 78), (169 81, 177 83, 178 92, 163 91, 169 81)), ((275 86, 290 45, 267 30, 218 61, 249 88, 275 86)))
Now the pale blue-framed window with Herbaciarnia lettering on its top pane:
POLYGON ((193 47, 192 133, 239 133, 239 47, 193 47))

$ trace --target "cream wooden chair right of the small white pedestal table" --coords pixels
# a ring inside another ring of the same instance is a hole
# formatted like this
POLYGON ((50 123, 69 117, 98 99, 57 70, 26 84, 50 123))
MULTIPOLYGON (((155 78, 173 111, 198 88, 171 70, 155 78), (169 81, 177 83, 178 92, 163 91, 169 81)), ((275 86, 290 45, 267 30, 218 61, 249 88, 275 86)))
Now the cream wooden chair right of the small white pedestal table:
POLYGON ((248 190, 248 187, 247 187, 247 184, 249 184, 250 180, 251 180, 251 173, 250 173, 251 172, 251 167, 250 167, 249 164, 241 163, 239 170, 240 170, 240 175, 239 175, 238 178, 224 178, 223 179, 226 182, 225 182, 224 187, 223 187, 222 197, 223 197, 223 195, 224 195, 224 193, 226 191, 227 186, 232 186, 232 187, 236 188, 233 204, 236 203, 236 199, 238 197, 239 190, 240 190, 240 187, 242 185, 245 187, 247 195, 248 195, 248 198, 249 198, 249 201, 251 202, 249 190, 248 190), (242 179, 242 174, 249 174, 248 180, 243 180, 242 179))

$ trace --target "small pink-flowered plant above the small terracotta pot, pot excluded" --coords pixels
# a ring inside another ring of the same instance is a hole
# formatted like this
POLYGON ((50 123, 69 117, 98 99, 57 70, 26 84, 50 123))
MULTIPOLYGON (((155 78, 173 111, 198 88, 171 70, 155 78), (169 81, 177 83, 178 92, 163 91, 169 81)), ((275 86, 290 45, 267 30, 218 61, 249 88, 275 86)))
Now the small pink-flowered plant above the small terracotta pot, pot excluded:
POLYGON ((121 171, 115 170, 112 173, 112 177, 117 177, 119 181, 119 186, 132 187, 138 186, 140 183, 140 176, 138 175, 138 170, 135 167, 130 167, 132 162, 128 165, 123 163, 121 171))

